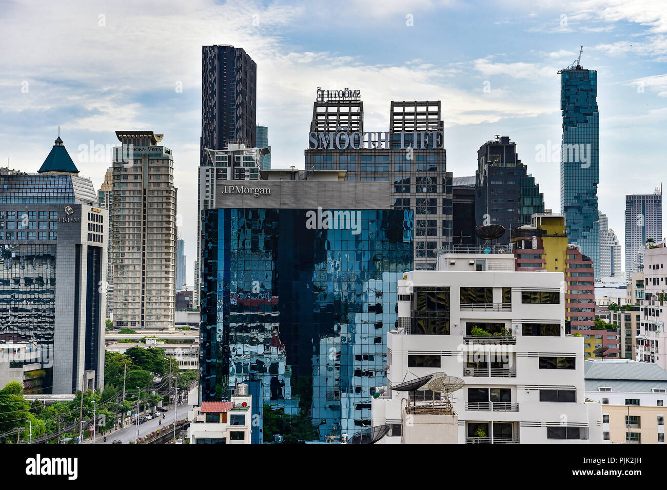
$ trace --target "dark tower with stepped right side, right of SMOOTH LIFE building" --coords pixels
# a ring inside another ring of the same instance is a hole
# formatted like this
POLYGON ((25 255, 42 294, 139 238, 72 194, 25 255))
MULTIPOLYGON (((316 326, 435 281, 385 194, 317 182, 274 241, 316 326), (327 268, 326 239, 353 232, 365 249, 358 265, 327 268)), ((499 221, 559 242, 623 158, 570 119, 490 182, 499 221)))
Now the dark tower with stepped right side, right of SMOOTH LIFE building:
POLYGON ((544 213, 544 195, 534 177, 528 175, 510 137, 487 141, 477 158, 476 226, 504 226, 505 235, 498 242, 509 243, 514 227, 530 224, 533 213, 544 213))

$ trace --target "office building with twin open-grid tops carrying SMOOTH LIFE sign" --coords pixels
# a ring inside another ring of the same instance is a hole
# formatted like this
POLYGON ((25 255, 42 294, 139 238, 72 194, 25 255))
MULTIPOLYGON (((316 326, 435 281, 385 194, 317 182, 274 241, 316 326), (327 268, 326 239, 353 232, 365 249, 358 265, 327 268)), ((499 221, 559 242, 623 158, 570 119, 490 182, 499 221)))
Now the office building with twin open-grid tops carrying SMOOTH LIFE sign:
POLYGON ((318 87, 305 169, 389 181, 392 209, 414 211, 415 269, 435 269, 438 249, 452 245, 452 173, 440 101, 392 101, 389 121, 389 131, 365 131, 360 91, 318 87))

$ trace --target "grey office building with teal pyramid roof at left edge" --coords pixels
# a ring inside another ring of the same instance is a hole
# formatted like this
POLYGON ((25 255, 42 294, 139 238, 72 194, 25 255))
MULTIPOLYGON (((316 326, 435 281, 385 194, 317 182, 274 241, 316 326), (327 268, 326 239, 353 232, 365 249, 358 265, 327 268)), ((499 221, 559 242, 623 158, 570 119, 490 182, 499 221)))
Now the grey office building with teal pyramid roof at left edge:
POLYGON ((0 171, 1 387, 103 387, 108 233, 60 137, 37 173, 0 171))

